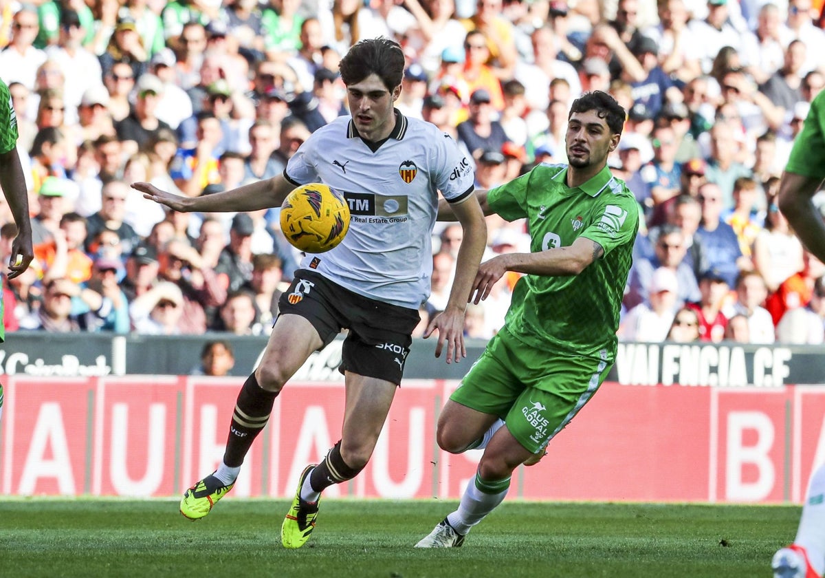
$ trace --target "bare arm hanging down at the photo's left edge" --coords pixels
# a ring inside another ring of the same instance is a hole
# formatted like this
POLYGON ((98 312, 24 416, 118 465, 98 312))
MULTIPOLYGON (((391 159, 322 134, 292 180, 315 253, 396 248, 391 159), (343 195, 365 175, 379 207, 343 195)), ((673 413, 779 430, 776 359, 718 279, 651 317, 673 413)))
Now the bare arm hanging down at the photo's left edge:
POLYGON ((12 255, 9 259, 8 278, 13 279, 26 271, 35 258, 31 247, 31 220, 29 220, 29 196, 26 192, 26 178, 20 164, 17 149, 12 148, 0 154, 0 187, 12 211, 17 236, 12 241, 12 255))

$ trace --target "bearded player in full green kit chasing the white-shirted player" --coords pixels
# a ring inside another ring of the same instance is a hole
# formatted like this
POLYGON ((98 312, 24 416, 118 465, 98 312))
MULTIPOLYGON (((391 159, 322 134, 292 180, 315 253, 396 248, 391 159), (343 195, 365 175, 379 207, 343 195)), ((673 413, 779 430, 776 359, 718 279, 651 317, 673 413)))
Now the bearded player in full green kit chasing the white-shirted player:
MULTIPOLYGON (((625 110, 606 92, 573 102, 565 136, 568 165, 540 164, 488 192, 484 214, 526 218, 530 253, 482 263, 479 301, 507 271, 524 273, 502 330, 450 396, 438 420, 439 446, 484 448, 459 508, 416 547, 457 547, 501 504, 512 471, 544 455, 596 393, 615 361, 619 313, 632 261, 639 208, 607 168, 625 110), (503 426, 503 427, 502 427, 503 426), (485 434, 486 432, 486 434, 485 434)), ((450 219, 446 203, 439 218, 450 219)))

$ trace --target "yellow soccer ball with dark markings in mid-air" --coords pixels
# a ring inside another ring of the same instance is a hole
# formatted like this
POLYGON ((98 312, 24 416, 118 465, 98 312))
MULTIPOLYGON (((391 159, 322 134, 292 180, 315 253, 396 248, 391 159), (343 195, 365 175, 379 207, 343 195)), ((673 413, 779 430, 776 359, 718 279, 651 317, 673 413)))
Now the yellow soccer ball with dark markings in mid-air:
POLYGON ((281 205, 281 231, 304 253, 325 253, 350 229, 350 207, 340 192, 321 182, 295 188, 281 205))

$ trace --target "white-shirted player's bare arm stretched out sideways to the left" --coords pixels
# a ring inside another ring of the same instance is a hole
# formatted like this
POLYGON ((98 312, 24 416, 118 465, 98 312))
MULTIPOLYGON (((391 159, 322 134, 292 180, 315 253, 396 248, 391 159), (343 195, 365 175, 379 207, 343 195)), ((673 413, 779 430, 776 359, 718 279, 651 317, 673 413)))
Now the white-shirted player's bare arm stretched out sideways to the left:
POLYGON ((144 193, 144 198, 168 206, 172 211, 220 213, 257 211, 281 206, 294 186, 283 174, 279 174, 266 181, 252 182, 231 191, 201 197, 181 197, 161 191, 148 182, 133 182, 132 188, 144 193))

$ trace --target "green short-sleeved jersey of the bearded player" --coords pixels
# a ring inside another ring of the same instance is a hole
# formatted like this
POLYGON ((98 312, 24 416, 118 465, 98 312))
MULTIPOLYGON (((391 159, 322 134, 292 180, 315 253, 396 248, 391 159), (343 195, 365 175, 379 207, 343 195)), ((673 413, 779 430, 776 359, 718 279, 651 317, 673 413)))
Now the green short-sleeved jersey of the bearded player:
POLYGON ((488 192, 488 204, 498 215, 527 219, 530 252, 569 247, 579 237, 605 252, 579 275, 521 277, 507 326, 535 348, 581 356, 606 353, 612 360, 639 210, 633 193, 609 168, 581 187, 568 187, 567 174, 566 164, 540 164, 488 192))

